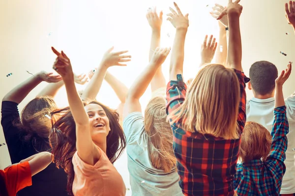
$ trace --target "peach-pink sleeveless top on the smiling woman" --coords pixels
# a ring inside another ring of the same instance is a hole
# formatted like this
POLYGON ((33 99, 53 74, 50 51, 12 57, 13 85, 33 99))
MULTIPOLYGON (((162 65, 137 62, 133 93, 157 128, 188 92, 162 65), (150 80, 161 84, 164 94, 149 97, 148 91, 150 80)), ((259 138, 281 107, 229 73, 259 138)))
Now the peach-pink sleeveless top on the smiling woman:
POLYGON ((126 187, 121 175, 100 149, 101 157, 91 166, 80 159, 78 151, 73 156, 75 196, 125 196, 126 187))

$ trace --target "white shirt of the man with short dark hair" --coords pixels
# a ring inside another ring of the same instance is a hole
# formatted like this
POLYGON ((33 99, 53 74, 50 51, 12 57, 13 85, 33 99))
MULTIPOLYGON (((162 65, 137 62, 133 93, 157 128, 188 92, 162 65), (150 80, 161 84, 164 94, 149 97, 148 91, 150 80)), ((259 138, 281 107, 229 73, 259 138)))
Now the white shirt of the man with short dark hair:
MULTIPOLYGON (((288 147, 286 151, 286 172, 283 177, 281 194, 295 193, 295 93, 285 99, 287 118, 289 122, 288 147)), ((247 102, 247 122, 256 122, 264 125, 271 132, 273 124, 274 98, 252 98, 247 102)))

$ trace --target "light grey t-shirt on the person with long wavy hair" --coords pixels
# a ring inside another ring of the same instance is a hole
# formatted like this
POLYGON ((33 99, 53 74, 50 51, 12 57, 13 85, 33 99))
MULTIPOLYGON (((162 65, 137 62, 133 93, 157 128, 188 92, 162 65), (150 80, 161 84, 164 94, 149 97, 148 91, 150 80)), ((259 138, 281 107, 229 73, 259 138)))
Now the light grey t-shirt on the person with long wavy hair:
POLYGON ((132 196, 183 196, 176 168, 166 173, 149 160, 148 136, 141 112, 129 114, 123 121, 127 139, 127 162, 132 196))

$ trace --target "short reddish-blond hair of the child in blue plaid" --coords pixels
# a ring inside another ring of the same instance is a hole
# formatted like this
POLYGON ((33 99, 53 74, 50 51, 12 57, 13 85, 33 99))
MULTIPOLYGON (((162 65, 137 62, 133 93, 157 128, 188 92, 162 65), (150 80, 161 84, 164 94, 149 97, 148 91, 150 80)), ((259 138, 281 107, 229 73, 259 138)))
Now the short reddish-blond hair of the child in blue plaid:
POLYGON ((271 135, 263 125, 247 122, 241 135, 239 157, 242 162, 266 158, 270 151, 271 135))

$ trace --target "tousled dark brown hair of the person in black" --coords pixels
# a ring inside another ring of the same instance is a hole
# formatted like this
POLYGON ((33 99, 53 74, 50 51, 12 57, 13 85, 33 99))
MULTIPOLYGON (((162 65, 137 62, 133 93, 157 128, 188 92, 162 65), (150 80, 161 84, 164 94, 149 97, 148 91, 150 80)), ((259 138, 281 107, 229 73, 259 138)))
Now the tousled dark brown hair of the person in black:
POLYGON ((51 97, 37 97, 29 101, 24 107, 21 118, 13 123, 22 130, 22 139, 33 145, 37 152, 50 148, 48 137, 51 130, 51 120, 46 116, 58 109, 51 97))

